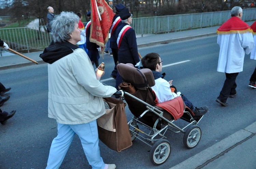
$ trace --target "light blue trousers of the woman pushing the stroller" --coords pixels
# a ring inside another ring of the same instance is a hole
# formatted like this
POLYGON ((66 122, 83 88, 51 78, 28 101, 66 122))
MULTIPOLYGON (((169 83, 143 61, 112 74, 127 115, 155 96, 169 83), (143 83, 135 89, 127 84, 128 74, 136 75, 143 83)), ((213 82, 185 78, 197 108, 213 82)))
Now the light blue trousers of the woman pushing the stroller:
POLYGON ((81 140, 84 153, 93 169, 103 169, 105 164, 100 156, 99 136, 96 120, 86 124, 58 124, 58 135, 53 139, 46 169, 58 169, 77 134, 81 140))

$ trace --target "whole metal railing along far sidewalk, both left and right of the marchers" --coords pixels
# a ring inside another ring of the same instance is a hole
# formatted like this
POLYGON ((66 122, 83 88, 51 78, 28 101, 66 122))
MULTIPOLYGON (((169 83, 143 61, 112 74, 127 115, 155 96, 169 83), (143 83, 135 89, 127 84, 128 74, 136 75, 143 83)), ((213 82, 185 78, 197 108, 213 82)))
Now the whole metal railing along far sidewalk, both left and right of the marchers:
MULTIPOLYGON (((132 27, 136 34, 157 34, 221 25, 229 18, 230 11, 134 18, 132 27)), ((244 9, 242 19, 256 20, 255 8, 244 9)), ((52 41, 46 26, 0 29, 0 35, 2 40, 17 51, 42 50, 52 41)))

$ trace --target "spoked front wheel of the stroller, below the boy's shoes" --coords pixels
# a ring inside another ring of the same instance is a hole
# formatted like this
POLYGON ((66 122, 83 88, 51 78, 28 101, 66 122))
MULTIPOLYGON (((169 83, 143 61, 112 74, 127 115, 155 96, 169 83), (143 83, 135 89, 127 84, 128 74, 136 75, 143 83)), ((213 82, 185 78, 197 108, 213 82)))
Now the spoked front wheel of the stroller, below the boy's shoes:
POLYGON ((189 149, 196 147, 201 139, 201 134, 202 131, 200 127, 196 125, 190 125, 184 134, 183 144, 189 149))

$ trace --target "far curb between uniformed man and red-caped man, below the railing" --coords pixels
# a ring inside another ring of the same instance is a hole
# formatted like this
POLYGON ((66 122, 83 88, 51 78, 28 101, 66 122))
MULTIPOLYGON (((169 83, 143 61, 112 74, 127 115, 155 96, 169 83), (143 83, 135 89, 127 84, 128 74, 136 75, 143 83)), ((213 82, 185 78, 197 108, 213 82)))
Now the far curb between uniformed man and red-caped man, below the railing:
POLYGON ((213 35, 217 35, 217 33, 212 32, 212 33, 201 34, 201 35, 186 36, 186 37, 183 37, 183 38, 173 38, 173 39, 168 39, 168 40, 159 40, 159 41, 154 41, 154 42, 149 42, 149 43, 138 44, 137 46, 138 46, 138 48, 142 48, 142 47, 152 46, 152 45, 156 45, 156 44, 177 42, 177 41, 182 41, 182 40, 189 40, 189 39, 200 38, 200 37, 205 37, 205 36, 213 36, 213 35))

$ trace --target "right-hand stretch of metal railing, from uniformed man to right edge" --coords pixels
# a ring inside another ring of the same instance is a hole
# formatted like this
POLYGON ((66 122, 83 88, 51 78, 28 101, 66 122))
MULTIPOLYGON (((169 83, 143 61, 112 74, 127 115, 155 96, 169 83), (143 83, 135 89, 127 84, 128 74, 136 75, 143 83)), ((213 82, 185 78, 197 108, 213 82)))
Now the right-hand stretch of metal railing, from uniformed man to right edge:
MULTIPOLYGON (((230 11, 133 18, 136 34, 157 34, 223 24, 230 18, 230 11)), ((256 20, 255 8, 244 9, 244 21, 256 20)))

